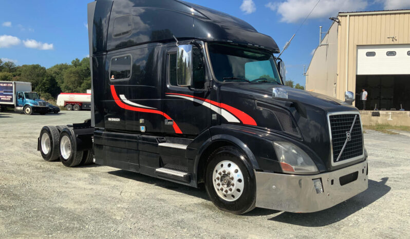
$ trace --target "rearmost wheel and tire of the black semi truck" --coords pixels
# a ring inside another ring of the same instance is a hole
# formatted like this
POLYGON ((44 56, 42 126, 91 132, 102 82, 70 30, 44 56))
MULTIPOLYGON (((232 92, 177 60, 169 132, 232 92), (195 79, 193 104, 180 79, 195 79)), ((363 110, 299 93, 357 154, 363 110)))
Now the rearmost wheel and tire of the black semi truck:
POLYGON ((59 130, 54 126, 44 126, 40 131, 40 152, 47 162, 58 160, 59 153, 59 130))

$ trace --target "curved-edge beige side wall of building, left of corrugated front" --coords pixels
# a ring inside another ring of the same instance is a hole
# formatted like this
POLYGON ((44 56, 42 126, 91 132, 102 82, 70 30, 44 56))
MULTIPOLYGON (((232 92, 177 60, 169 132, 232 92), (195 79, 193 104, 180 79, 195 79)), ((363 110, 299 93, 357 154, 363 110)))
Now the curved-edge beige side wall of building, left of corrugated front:
MULTIPOLYGON (((319 29, 318 29, 319 31, 319 29)), ((306 72, 306 90, 335 97, 338 67, 338 24, 334 23, 316 48, 306 72)))

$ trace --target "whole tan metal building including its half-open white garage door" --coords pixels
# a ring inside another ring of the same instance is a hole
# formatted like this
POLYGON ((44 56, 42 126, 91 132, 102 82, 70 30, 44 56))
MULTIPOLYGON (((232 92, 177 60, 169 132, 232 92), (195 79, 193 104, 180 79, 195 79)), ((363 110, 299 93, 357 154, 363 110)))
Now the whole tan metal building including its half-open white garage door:
POLYGON ((306 90, 344 100, 368 92, 366 109, 410 110, 410 10, 339 13, 316 48, 306 90))

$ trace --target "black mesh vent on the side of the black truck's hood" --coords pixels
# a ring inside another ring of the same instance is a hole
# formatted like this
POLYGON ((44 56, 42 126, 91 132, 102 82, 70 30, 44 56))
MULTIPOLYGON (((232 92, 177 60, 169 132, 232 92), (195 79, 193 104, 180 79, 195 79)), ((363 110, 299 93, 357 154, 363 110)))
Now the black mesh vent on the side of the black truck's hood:
POLYGON ((276 116, 283 132, 299 138, 301 137, 301 133, 289 112, 262 102, 256 102, 256 106, 271 111, 276 116))

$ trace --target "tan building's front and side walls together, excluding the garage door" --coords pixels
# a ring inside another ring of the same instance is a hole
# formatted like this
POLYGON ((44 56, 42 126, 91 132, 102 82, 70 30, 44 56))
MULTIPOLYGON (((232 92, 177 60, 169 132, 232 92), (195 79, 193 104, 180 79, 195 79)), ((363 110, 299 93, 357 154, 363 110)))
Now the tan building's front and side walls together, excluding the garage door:
MULTIPOLYGON (((356 91, 357 46, 410 44, 410 10, 340 13, 338 18, 340 23, 333 24, 326 36, 329 46, 319 47, 312 57, 306 89, 344 100, 346 90, 356 91), (387 38, 390 36, 397 41, 387 38), (334 43, 337 51, 332 48, 334 43), (336 95, 330 87, 334 74, 336 95)), ((324 39, 322 43, 326 42, 324 39)))

